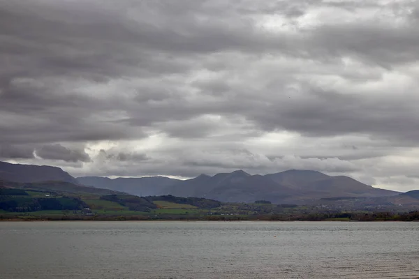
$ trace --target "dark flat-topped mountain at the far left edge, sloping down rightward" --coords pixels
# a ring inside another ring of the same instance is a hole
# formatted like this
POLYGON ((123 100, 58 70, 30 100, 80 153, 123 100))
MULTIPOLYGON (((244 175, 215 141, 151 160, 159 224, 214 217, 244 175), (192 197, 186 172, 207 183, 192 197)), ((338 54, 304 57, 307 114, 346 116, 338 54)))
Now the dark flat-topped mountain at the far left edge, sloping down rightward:
POLYGON ((66 181, 77 184, 73 176, 59 167, 20 165, 0 162, 0 179, 14 182, 66 181))

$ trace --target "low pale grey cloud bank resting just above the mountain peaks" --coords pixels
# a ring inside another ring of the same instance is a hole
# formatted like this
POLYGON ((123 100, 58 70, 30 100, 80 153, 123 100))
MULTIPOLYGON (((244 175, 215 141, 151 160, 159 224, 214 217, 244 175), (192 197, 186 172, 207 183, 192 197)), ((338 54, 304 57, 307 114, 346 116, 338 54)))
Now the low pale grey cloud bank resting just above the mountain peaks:
MULTIPOLYGON (((359 172, 360 167, 347 160, 338 158, 300 158, 299 156, 281 156, 270 160, 258 153, 251 153, 244 149, 229 149, 228 151, 201 151, 189 148, 182 152, 166 151, 164 154, 155 153, 150 158, 133 158, 122 160, 117 165, 115 156, 106 160, 94 159, 96 168, 94 175, 116 176, 184 176, 193 177, 198 174, 216 174, 219 172, 233 172, 244 169, 250 174, 267 174, 281 172, 286 169, 314 169, 321 172, 352 173, 359 172), (152 158, 150 160, 150 158, 152 158), (108 160, 108 161, 107 161, 108 160), (112 162, 112 163, 111 163, 112 162)), ((77 175, 86 173, 74 169, 77 175)))

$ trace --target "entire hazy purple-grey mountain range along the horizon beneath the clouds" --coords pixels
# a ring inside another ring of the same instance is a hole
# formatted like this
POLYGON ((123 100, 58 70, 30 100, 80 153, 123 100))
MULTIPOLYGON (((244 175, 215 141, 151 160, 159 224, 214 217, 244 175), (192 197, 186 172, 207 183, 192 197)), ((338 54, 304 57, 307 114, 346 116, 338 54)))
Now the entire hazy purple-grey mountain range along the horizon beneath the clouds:
POLYGON ((288 170, 275 174, 251 175, 243 170, 214 176, 201 174, 179 180, 165 176, 109 179, 101 176, 74 178, 59 167, 19 165, 0 162, 0 179, 20 183, 64 181, 71 185, 92 186, 131 195, 174 195, 205 197, 221 202, 304 204, 328 197, 390 197, 398 192, 368 186, 348 176, 328 176, 311 170, 288 170))

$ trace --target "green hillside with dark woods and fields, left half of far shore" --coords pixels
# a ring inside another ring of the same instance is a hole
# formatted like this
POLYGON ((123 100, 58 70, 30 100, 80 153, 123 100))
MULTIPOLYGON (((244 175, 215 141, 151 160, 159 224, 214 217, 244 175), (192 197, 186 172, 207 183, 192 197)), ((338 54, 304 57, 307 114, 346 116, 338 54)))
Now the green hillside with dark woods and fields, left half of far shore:
MULTIPOLYGON (((64 182, 63 182, 64 183, 64 182)), ((221 202, 198 197, 172 195, 138 197, 110 190, 85 186, 59 188, 57 183, 8 183, 0 184, 0 219, 46 218, 53 220, 85 220, 105 218, 119 220, 137 216, 137 220, 156 216, 205 216, 211 210, 219 211, 221 202), (94 193, 89 193, 89 188, 94 193), (65 192, 66 191, 66 192, 65 192), (105 194, 105 195, 99 195, 105 194)))

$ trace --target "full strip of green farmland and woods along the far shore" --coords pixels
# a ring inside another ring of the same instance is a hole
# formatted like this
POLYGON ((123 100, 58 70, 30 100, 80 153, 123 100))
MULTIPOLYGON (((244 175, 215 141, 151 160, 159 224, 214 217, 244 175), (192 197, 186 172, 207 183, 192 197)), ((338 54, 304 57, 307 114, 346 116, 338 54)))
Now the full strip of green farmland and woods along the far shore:
POLYGON ((418 220, 419 213, 342 211, 331 206, 221 203, 196 197, 101 195, 1 188, 0 220, 418 220))

